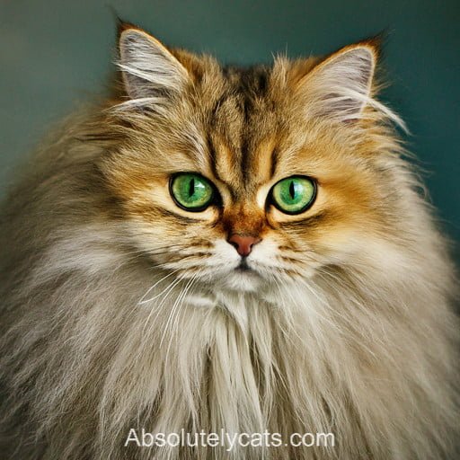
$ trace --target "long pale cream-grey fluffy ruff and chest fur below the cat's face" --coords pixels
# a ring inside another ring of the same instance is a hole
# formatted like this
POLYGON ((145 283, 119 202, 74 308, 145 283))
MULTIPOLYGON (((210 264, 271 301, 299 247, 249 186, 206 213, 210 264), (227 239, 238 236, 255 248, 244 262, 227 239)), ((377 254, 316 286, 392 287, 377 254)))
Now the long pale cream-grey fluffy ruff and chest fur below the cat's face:
POLYGON ((393 270, 325 270, 263 296, 218 295, 114 251, 113 230, 80 227, 3 293, 15 318, 2 339, 3 426, 16 429, 3 446, 13 457, 453 452, 456 323, 434 250, 408 251, 410 276, 400 258, 393 270), (323 431, 336 446, 129 450, 130 428, 323 431))

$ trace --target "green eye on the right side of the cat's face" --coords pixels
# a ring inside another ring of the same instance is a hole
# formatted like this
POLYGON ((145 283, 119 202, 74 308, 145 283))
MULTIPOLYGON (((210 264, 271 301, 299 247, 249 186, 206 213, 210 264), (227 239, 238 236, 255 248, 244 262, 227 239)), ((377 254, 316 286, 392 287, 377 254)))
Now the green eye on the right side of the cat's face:
POLYGON ((305 176, 292 176, 277 182, 271 200, 285 214, 300 214, 310 208, 316 196, 316 183, 305 176))

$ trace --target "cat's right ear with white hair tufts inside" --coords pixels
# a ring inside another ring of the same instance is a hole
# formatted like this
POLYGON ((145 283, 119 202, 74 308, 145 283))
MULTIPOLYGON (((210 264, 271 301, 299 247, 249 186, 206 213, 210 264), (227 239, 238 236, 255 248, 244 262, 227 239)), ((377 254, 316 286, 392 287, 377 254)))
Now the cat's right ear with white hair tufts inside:
POLYGON ((306 74, 297 85, 307 97, 311 116, 349 121, 362 117, 367 104, 373 104, 371 90, 377 49, 359 43, 340 49, 306 74))

